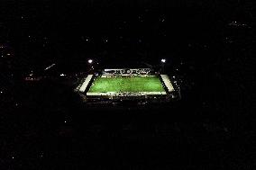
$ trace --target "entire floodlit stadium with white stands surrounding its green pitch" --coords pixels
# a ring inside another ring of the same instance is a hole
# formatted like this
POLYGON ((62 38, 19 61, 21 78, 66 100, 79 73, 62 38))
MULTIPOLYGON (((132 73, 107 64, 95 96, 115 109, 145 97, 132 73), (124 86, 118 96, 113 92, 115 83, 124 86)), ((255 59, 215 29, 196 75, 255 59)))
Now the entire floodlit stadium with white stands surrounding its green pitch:
POLYGON ((150 68, 104 69, 87 75, 76 91, 88 103, 170 101, 179 97, 169 76, 154 73, 150 68))

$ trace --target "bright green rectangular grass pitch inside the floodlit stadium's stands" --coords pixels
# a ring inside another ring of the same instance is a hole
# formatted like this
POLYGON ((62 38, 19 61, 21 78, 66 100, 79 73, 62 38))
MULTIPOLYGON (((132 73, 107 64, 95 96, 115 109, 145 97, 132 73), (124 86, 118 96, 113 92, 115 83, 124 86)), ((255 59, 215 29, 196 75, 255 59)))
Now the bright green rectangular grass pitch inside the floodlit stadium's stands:
POLYGON ((165 90, 157 76, 123 76, 96 77, 88 92, 165 92, 165 90))

